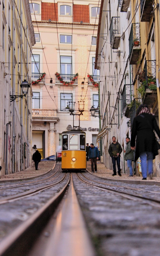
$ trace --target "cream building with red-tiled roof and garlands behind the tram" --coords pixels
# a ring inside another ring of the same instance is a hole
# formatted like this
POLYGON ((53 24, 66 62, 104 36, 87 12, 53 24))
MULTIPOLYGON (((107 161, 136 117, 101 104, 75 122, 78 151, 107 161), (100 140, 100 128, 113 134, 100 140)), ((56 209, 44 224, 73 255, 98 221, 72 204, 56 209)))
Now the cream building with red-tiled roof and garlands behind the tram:
POLYGON ((80 127, 86 131, 86 142, 96 144, 99 118, 91 117, 89 110, 99 104, 95 86, 99 71, 95 70, 94 62, 100 5, 93 0, 76 0, 74 4, 57 0, 55 4, 53 0, 32 3, 36 39, 32 57, 32 145, 37 146, 43 157, 55 154, 61 145, 62 131, 73 128, 73 118, 74 126, 79 125, 79 116, 70 115, 66 107, 70 102, 70 108, 75 106, 74 114, 78 114, 83 101, 85 111, 80 127), (37 83, 44 72, 45 77, 37 83), (95 83, 88 79, 88 74, 94 75, 95 83))

